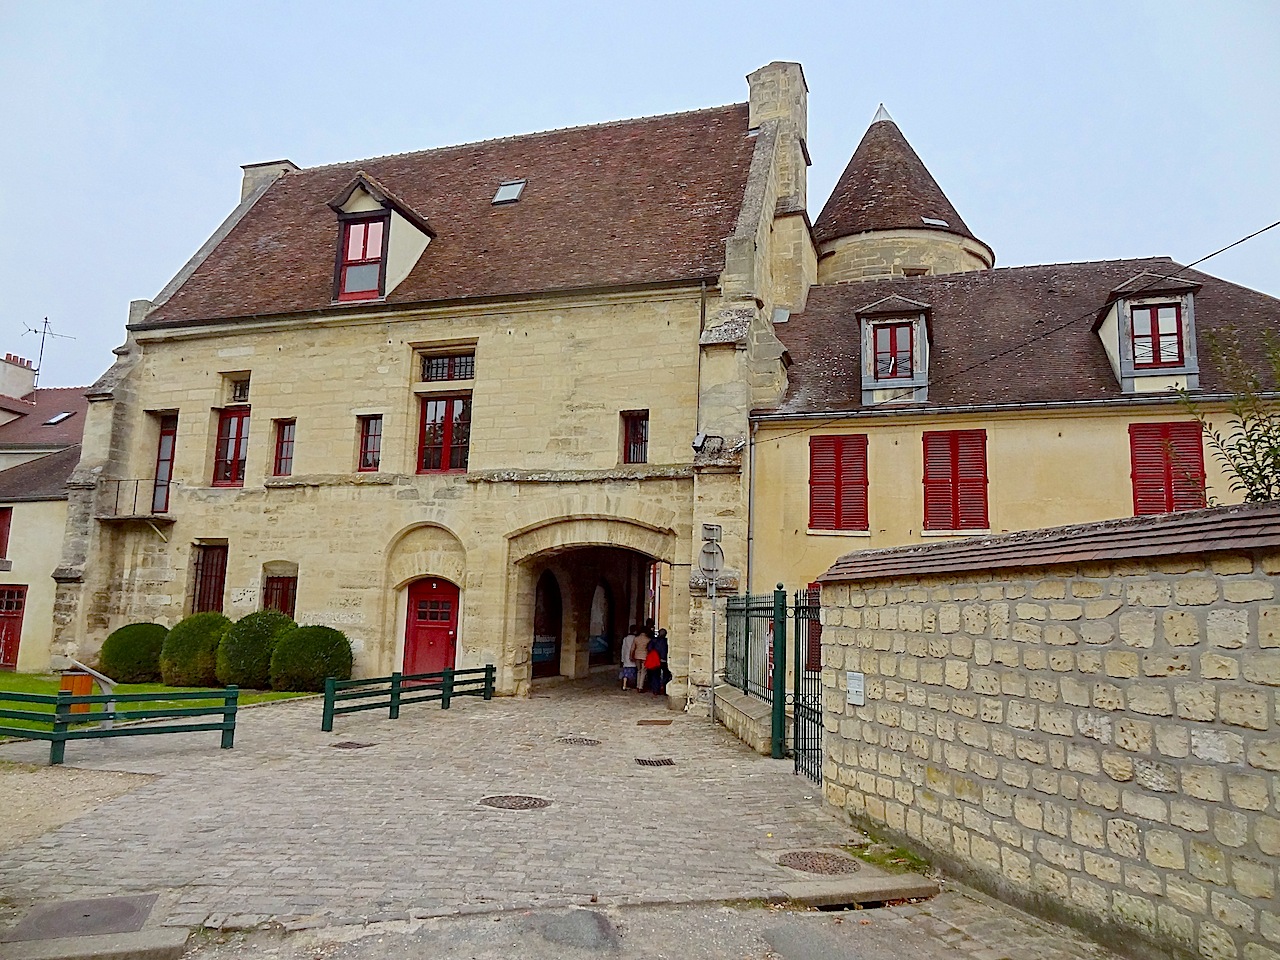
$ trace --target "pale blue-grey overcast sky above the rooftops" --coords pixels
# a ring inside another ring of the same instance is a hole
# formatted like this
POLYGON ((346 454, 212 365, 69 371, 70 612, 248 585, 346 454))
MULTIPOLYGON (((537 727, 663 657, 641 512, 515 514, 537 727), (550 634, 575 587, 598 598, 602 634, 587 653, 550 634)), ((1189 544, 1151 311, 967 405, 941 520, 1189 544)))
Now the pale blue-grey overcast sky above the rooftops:
MULTIPOLYGON (((0 348, 92 383, 239 200, 300 166, 746 100, 797 60, 809 207, 878 104, 997 265, 1280 220, 1280 0, 0 0, 0 348)), ((1280 296, 1280 228, 1202 268, 1280 296)))

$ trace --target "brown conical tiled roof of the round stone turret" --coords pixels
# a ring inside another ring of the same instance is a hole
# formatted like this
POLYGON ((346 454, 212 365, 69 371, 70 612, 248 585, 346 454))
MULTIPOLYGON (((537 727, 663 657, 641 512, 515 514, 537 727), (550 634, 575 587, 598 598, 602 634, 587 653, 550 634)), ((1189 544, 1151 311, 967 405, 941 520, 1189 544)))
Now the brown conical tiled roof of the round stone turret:
POLYGON ((900 229, 942 230, 978 241, 881 104, 822 207, 813 236, 824 243, 900 229))

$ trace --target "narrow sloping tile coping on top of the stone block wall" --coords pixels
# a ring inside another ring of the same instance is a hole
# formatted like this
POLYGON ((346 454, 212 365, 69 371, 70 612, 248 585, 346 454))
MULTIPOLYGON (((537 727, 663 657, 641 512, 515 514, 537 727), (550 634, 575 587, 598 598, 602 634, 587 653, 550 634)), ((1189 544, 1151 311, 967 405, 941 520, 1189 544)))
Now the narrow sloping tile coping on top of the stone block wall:
POLYGON ((936 576, 1275 547, 1280 547, 1280 503, 1252 503, 980 539, 858 550, 846 553, 818 580, 829 584, 936 576))

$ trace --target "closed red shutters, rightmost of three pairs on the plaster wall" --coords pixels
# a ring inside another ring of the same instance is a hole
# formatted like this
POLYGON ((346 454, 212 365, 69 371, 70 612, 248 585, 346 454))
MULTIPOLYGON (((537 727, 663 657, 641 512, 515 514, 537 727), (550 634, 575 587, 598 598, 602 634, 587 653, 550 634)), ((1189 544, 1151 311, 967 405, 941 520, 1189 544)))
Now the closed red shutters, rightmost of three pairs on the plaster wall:
POLYGON ((1197 421, 1130 424, 1129 461, 1134 516, 1206 506, 1204 444, 1197 421))

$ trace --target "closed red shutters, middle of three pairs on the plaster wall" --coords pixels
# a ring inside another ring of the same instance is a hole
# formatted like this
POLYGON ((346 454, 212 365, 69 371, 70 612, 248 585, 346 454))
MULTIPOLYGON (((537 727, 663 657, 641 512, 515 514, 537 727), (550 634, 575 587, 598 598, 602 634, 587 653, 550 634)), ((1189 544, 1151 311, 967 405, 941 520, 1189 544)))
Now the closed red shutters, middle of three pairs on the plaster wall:
POLYGON ((924 433, 924 529, 986 530, 987 431, 924 433))

